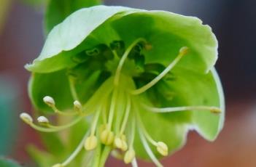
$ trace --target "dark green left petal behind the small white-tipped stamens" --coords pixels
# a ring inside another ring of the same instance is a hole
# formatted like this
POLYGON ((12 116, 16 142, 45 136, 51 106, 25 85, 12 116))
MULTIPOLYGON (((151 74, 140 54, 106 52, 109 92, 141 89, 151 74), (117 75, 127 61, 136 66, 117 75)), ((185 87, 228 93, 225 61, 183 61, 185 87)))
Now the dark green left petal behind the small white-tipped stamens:
POLYGON ((59 110, 66 110, 73 106, 74 100, 71 97, 66 70, 47 74, 34 73, 30 78, 28 89, 33 105, 40 111, 53 112, 43 102, 42 99, 45 96, 53 97, 59 110))

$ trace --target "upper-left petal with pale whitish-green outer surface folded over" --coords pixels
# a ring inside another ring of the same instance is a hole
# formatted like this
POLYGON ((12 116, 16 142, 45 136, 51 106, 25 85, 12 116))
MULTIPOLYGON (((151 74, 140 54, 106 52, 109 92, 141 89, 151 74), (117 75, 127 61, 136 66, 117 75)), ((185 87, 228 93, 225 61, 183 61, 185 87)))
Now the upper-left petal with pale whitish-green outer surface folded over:
MULTIPOLYGON (((74 52, 66 51, 81 44, 93 30, 106 20, 118 12, 125 12, 128 9, 126 7, 96 6, 74 12, 63 23, 50 31, 41 54, 31 65, 26 65, 26 68, 34 72, 47 73, 70 66, 70 57, 74 55, 74 52)), ((106 32, 104 32, 105 34, 106 32)), ((83 49, 85 48, 78 50, 83 49)))

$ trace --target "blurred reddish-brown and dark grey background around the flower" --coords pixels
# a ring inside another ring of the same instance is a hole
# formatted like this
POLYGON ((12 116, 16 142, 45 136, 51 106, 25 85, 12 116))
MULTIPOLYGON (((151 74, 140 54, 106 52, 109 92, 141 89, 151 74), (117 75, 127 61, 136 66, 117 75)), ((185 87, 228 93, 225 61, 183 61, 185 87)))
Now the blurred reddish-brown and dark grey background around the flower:
MULTIPOLYGON (((21 123, 18 114, 32 109, 27 93, 29 73, 23 65, 34 60, 44 44, 44 3, 0 0, 0 155, 24 166, 30 163, 26 144, 40 145, 36 131, 21 123)), ((163 164, 256 166, 256 1, 106 0, 105 4, 196 16, 212 27, 219 41, 216 67, 225 91, 225 127, 213 143, 190 132, 186 146, 163 159, 163 164)), ((106 166, 124 165, 110 158, 106 166)))

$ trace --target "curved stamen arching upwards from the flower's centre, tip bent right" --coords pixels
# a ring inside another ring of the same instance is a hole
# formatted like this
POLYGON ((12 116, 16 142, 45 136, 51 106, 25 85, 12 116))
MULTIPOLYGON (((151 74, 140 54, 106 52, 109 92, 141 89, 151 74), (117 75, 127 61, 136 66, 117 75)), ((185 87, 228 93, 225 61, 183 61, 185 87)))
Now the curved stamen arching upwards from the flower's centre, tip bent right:
POLYGON ((146 40, 144 38, 138 38, 135 41, 133 41, 133 43, 130 46, 128 46, 128 48, 125 50, 125 53, 123 54, 118 66, 117 66, 117 70, 115 72, 115 79, 114 79, 115 86, 118 85, 119 78, 120 78, 120 73, 121 73, 121 70, 123 68, 123 64, 125 63, 125 60, 128 57, 128 54, 131 52, 133 47, 136 46, 136 44, 138 44, 141 41, 146 42, 146 40))

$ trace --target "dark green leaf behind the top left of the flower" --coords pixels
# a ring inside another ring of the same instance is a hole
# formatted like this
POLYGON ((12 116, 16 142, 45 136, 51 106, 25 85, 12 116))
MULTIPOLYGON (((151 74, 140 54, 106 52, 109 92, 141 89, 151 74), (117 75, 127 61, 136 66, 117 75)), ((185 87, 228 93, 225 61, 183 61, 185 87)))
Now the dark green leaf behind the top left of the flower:
POLYGON ((61 23, 72 12, 98 4, 101 4, 101 0, 51 0, 44 17, 46 33, 49 33, 55 25, 61 23))

